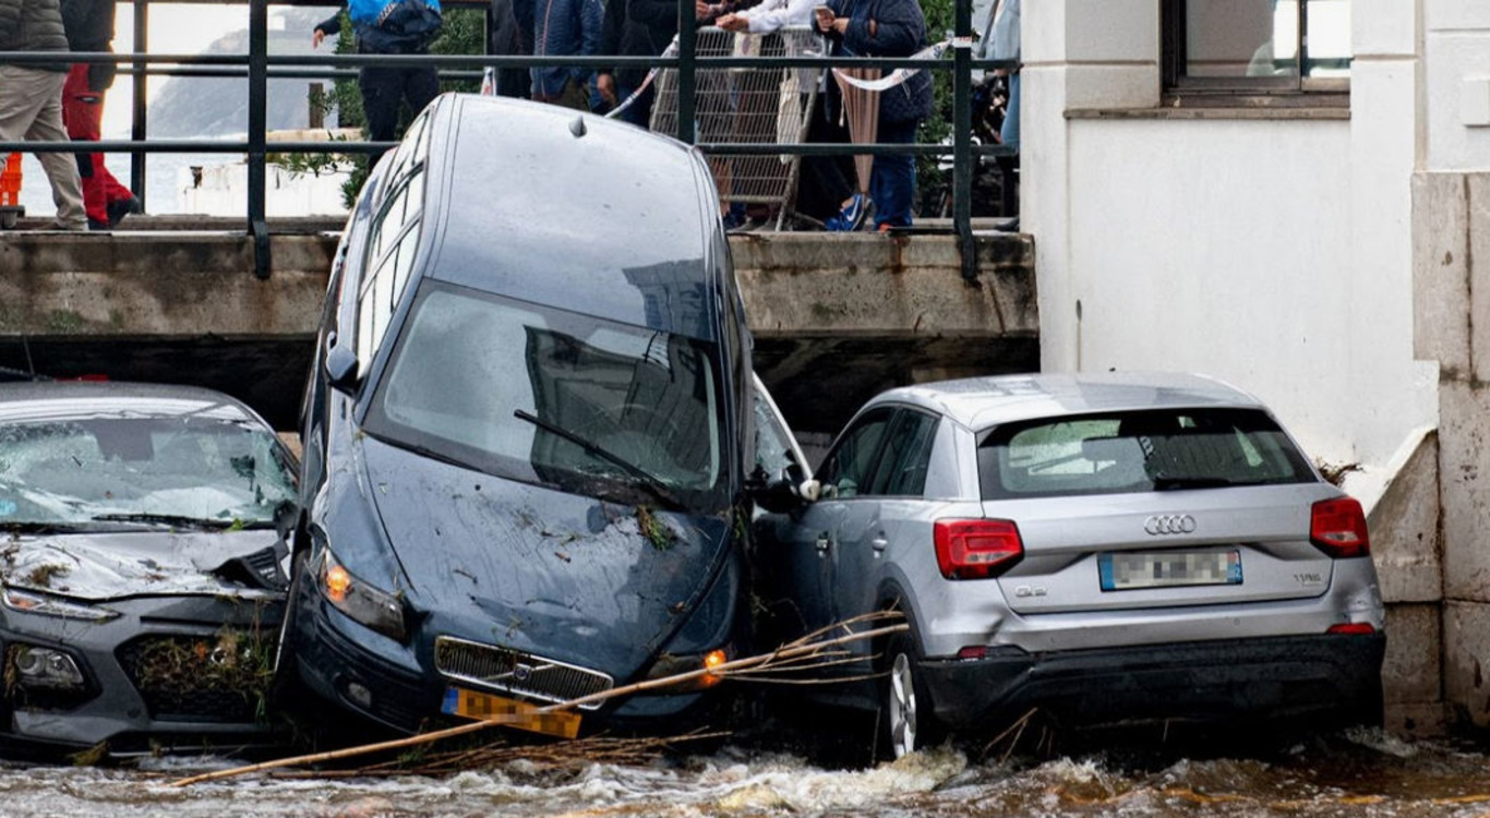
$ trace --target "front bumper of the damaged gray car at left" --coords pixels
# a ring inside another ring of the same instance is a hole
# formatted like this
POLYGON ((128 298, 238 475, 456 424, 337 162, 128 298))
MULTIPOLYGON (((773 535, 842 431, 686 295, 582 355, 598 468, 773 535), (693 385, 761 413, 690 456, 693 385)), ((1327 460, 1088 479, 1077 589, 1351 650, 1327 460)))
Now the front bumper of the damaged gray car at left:
POLYGON ((6 685, 0 733, 7 749, 82 749, 110 754, 162 746, 264 745, 267 660, 283 614, 277 597, 137 597, 109 602, 119 617, 79 621, 4 611, 0 662, 36 647, 63 651, 85 678, 82 690, 6 685))

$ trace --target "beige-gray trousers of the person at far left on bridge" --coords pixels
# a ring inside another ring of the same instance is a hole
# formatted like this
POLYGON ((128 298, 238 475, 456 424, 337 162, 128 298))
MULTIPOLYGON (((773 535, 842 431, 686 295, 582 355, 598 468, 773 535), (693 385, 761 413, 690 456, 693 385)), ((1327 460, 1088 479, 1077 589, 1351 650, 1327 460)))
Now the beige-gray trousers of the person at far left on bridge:
MULTIPOLYGON (((63 83, 67 74, 0 66, 0 142, 67 142, 63 128, 63 83)), ((72 153, 37 153, 52 183, 57 226, 88 229, 83 188, 72 153)))

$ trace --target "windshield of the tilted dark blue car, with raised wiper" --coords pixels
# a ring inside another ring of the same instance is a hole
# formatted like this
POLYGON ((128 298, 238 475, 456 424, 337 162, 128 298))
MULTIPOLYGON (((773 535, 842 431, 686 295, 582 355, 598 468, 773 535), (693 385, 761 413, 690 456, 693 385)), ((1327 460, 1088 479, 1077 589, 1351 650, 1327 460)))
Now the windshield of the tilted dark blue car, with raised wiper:
POLYGON ((431 282, 365 425, 498 477, 712 508, 729 463, 717 362, 706 341, 431 282))

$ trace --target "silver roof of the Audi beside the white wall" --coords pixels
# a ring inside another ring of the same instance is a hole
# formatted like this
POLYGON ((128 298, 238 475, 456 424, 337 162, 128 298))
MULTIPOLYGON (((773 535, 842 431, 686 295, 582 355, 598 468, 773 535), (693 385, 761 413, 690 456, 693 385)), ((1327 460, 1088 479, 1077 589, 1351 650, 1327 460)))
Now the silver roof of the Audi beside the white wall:
POLYGON ((1050 372, 948 380, 891 389, 882 402, 919 405, 971 429, 1000 423, 1147 408, 1265 408, 1219 380, 1183 372, 1050 372))

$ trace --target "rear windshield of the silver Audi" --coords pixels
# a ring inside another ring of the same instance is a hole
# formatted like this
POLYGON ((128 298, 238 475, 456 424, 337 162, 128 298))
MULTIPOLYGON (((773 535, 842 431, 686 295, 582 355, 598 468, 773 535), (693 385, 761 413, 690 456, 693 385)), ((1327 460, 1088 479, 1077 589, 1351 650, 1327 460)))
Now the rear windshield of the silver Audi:
POLYGON ((977 477, 983 499, 1316 480, 1266 413, 1238 408, 1147 410, 1003 425, 980 438, 977 477))

